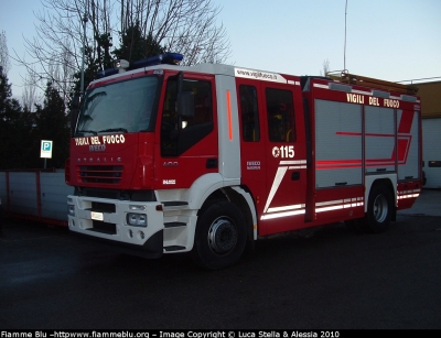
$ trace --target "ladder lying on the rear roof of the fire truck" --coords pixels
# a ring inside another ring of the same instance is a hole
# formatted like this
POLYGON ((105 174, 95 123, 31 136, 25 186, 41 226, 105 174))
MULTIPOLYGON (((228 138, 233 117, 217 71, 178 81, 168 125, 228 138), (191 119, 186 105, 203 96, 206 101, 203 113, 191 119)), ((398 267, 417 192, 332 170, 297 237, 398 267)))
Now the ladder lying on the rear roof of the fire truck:
POLYGON ((396 91, 396 92, 408 94, 408 95, 416 95, 418 91, 418 87, 416 87, 413 85, 402 85, 402 84, 386 81, 386 80, 381 80, 381 79, 377 79, 377 78, 354 75, 354 74, 349 74, 346 72, 341 72, 341 73, 338 73, 338 75, 335 75, 333 73, 336 73, 336 72, 329 72, 329 73, 326 73, 326 76, 332 78, 333 80, 340 81, 342 84, 357 85, 357 86, 364 86, 364 87, 376 88, 376 89, 385 89, 385 90, 389 90, 389 91, 396 91))

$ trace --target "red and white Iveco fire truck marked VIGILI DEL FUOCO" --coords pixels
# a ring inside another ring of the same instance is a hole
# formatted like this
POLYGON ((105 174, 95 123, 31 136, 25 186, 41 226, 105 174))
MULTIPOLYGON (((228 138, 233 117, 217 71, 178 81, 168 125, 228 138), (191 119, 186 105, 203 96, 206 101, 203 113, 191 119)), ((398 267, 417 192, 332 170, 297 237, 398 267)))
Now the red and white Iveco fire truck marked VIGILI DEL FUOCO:
POLYGON ((180 59, 119 61, 88 86, 65 168, 72 231, 222 269, 273 233, 336 221, 381 232, 418 197, 412 88, 180 59))

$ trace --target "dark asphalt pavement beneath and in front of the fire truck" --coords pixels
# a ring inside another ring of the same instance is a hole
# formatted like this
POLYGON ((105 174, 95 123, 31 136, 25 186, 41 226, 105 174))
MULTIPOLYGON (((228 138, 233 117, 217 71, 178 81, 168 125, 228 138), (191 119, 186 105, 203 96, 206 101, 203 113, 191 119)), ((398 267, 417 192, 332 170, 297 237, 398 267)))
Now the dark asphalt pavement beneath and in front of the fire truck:
POLYGON ((268 238, 215 272, 184 254, 143 260, 89 246, 67 228, 8 219, 0 330, 440 330, 440 209, 441 190, 423 189, 385 233, 330 225, 268 238))

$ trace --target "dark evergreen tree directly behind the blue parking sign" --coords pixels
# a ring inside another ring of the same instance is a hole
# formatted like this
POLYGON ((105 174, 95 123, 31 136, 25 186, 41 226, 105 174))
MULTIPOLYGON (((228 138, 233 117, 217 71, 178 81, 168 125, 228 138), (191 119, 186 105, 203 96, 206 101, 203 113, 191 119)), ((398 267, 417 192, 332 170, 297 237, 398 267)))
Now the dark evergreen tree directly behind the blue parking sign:
POLYGON ((46 86, 43 106, 35 105, 35 108, 33 140, 36 140, 39 145, 41 140, 53 141, 52 159, 47 160, 49 165, 58 168, 64 167, 68 157, 69 121, 65 113, 64 100, 51 83, 46 86))

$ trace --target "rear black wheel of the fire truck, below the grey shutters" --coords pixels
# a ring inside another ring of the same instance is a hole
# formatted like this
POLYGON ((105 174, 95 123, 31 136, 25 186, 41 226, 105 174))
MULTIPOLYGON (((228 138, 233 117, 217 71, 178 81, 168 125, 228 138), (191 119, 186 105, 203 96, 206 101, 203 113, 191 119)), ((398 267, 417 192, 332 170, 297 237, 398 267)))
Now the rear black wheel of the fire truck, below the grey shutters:
POLYGON ((394 198, 390 189, 384 185, 374 185, 369 193, 365 218, 366 230, 385 232, 394 212, 394 198))

